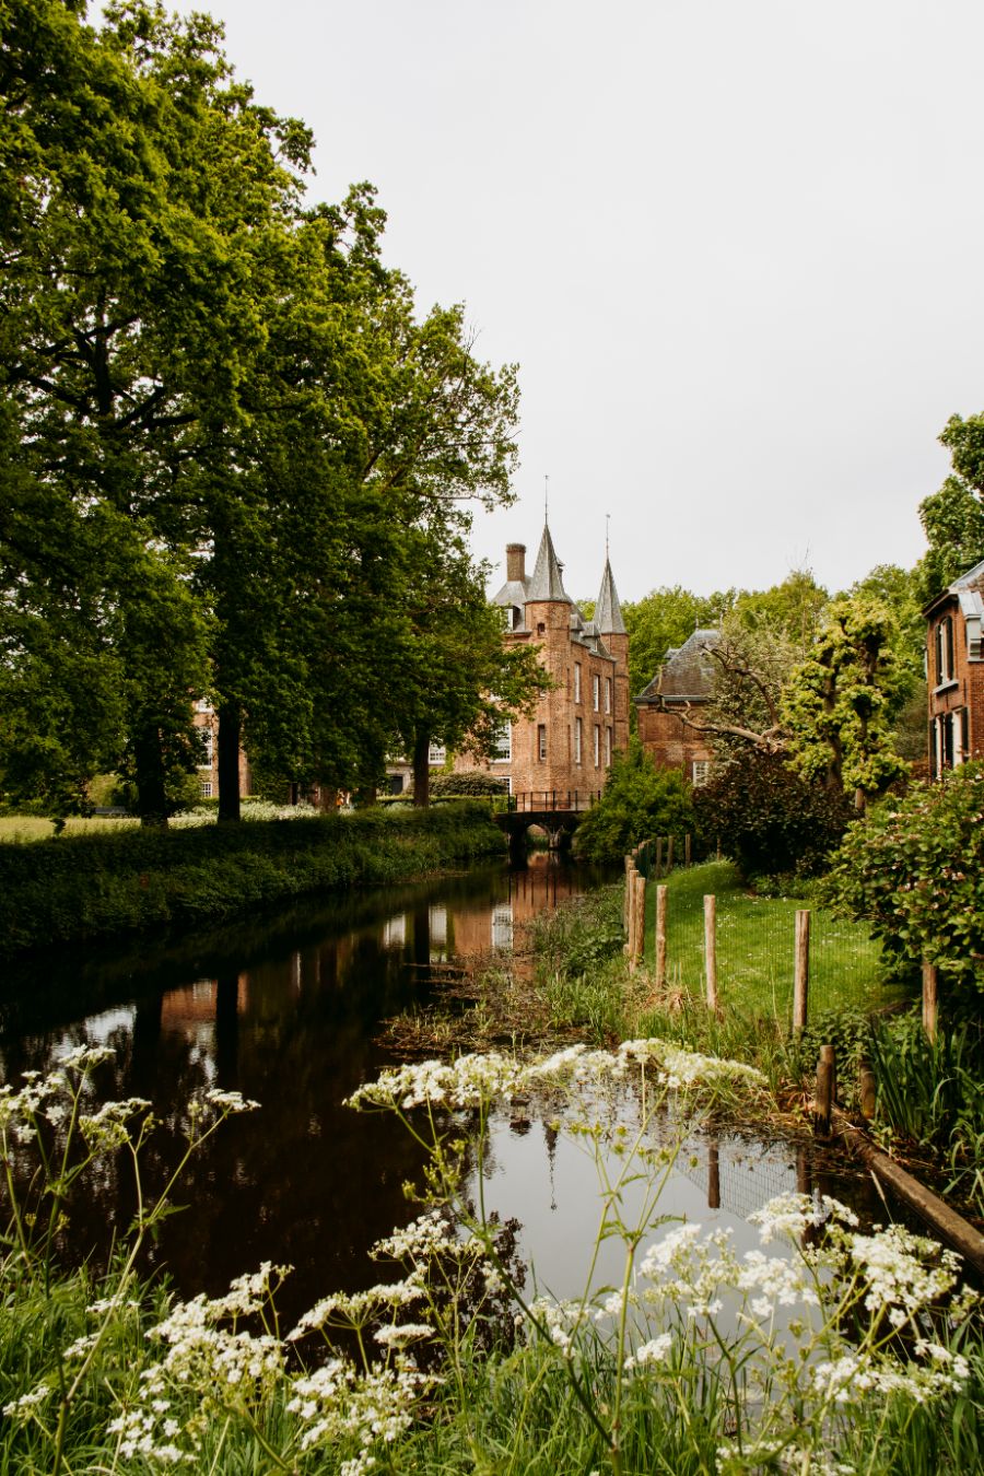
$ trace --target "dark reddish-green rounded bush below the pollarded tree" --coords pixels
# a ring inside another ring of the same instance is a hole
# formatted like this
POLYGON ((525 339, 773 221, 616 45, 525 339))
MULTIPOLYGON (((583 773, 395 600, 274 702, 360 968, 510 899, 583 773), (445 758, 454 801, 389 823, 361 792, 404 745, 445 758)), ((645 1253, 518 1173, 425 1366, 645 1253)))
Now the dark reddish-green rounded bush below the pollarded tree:
POLYGON ((701 834, 720 843, 745 877, 816 875, 853 815, 839 791, 798 775, 782 754, 745 750, 695 791, 701 834))

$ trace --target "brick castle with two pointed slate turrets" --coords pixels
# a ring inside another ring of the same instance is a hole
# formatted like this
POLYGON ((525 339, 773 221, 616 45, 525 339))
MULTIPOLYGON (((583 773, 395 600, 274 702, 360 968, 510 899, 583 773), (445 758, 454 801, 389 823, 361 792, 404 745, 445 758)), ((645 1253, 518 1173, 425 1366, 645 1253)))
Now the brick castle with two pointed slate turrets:
POLYGON ((493 604, 506 611, 507 644, 540 648, 553 689, 538 698, 530 719, 503 725, 491 760, 466 754, 454 772, 496 775, 510 793, 597 793, 612 754, 628 747, 628 633, 611 564, 605 558, 593 620, 586 620, 564 589, 564 565, 544 524, 533 574, 524 543, 506 546, 506 583, 493 604))

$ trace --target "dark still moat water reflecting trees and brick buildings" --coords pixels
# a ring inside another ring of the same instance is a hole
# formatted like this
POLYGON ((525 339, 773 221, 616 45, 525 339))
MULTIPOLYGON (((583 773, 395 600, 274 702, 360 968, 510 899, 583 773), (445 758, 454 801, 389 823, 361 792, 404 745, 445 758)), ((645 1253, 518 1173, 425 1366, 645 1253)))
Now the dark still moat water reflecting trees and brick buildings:
MULTIPOLYGON (((422 1168, 409 1134, 389 1116, 342 1106, 392 1063, 381 1023, 428 1002, 435 964, 507 948, 515 922, 596 880, 538 855, 522 871, 496 865, 308 899, 218 933, 7 967, 3 1077, 46 1072, 66 1046, 111 1045, 100 1095, 148 1097, 161 1119, 146 1159, 150 1191, 181 1156, 192 1097, 217 1085, 260 1101, 261 1111, 232 1119, 192 1160, 176 1193, 187 1207, 164 1224, 150 1265, 167 1266, 184 1294, 214 1294, 261 1261, 291 1263, 280 1299, 291 1318, 330 1289, 379 1280, 369 1246, 416 1212, 403 1191, 422 1168)), ((597 1218, 592 1166, 546 1123, 502 1117, 485 1178, 488 1204, 522 1221, 537 1275, 556 1292, 578 1290, 597 1218)), ((803 1148, 695 1138, 665 1209, 741 1228, 751 1209, 795 1188, 857 1203, 856 1185, 803 1148)), ((131 1178, 106 1165, 72 1212, 72 1247, 105 1247, 133 1210, 131 1178)))

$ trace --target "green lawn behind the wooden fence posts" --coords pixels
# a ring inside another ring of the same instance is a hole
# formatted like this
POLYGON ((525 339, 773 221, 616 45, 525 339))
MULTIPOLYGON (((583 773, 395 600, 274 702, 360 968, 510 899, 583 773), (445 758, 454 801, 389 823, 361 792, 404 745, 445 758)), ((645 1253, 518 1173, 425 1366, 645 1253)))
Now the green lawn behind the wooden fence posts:
MULTIPOLYGON (((667 878, 667 980, 704 996, 704 896, 717 897, 717 989, 724 1010, 746 1017, 792 1017, 797 897, 755 897, 730 862, 710 862, 667 878)), ((810 908, 810 1014, 878 1008, 895 996, 881 982, 881 946, 862 924, 810 908)), ((646 962, 655 964, 656 887, 646 887, 646 962)))

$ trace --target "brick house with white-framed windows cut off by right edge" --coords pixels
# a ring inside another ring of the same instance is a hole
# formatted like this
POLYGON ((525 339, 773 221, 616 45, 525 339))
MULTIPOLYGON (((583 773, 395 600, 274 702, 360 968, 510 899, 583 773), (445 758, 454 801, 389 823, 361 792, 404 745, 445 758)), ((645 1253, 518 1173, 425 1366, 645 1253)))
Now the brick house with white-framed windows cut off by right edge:
POLYGON ((984 562, 924 610, 929 682, 929 775, 984 756, 984 562))

